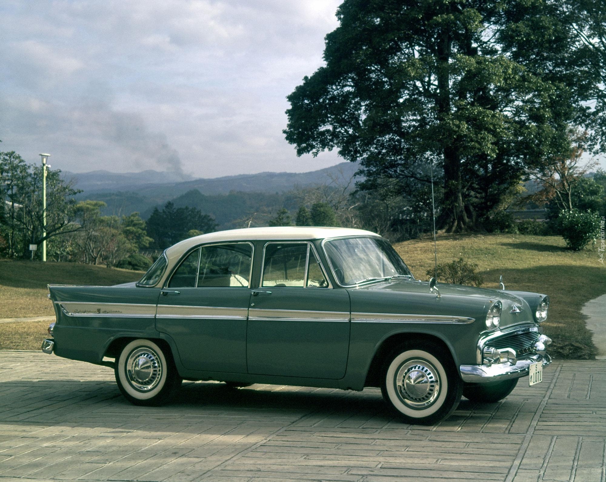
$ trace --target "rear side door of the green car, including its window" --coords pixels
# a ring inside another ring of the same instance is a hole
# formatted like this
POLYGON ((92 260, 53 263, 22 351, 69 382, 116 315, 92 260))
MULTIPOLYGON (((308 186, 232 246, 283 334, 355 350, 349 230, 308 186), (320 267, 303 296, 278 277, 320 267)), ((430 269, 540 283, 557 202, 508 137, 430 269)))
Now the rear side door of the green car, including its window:
POLYGON ((175 340, 185 368, 246 373, 253 245, 202 245, 184 256, 161 291, 156 329, 175 340))

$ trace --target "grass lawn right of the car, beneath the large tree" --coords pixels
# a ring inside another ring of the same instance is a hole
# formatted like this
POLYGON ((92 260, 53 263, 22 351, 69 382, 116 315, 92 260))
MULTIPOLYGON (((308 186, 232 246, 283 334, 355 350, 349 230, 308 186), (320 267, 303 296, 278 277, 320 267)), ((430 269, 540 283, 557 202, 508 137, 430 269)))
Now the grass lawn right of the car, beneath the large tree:
MULTIPOLYGON (((410 240, 395 248, 416 278, 428 279, 425 272, 433 268, 433 239, 410 240)), ((583 359, 595 356, 581 306, 606 293, 606 268, 598 262, 597 248, 589 246, 575 253, 566 249, 558 236, 439 236, 438 263, 450 263, 459 257, 478 264, 484 288, 498 288, 502 275, 506 289, 549 295, 549 315, 542 326, 553 339, 551 355, 583 359)))

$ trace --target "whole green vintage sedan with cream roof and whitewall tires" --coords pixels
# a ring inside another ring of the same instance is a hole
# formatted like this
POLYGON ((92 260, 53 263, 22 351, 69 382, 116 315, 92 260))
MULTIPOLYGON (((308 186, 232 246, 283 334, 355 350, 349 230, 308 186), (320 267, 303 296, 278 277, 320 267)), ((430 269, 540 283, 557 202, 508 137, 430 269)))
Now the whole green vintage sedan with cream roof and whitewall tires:
POLYGON ((166 249, 136 283, 49 285, 42 351, 115 370, 135 404, 182 380, 381 387, 408 423, 541 381, 549 299, 416 280, 390 243, 360 229, 203 234, 166 249))

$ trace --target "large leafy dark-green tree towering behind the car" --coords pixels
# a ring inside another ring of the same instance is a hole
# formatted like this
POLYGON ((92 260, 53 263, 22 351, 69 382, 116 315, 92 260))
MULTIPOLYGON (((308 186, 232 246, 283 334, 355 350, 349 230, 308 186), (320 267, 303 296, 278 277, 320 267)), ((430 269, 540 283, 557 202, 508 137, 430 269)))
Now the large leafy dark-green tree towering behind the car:
POLYGON ((598 125, 599 28, 572 1, 345 0, 325 67, 288 96, 286 139, 359 161, 363 187, 433 165, 439 226, 473 229, 524 168, 570 150, 568 126, 598 125))

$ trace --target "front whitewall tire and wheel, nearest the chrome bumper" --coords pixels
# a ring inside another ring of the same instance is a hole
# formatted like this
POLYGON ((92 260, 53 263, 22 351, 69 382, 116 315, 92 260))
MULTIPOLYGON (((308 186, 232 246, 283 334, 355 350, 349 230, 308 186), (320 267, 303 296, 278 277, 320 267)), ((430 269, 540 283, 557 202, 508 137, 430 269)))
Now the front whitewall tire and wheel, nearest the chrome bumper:
POLYGON ((383 398, 407 423, 431 425, 461 400, 462 381, 448 352, 435 343, 402 345, 383 369, 383 398))

